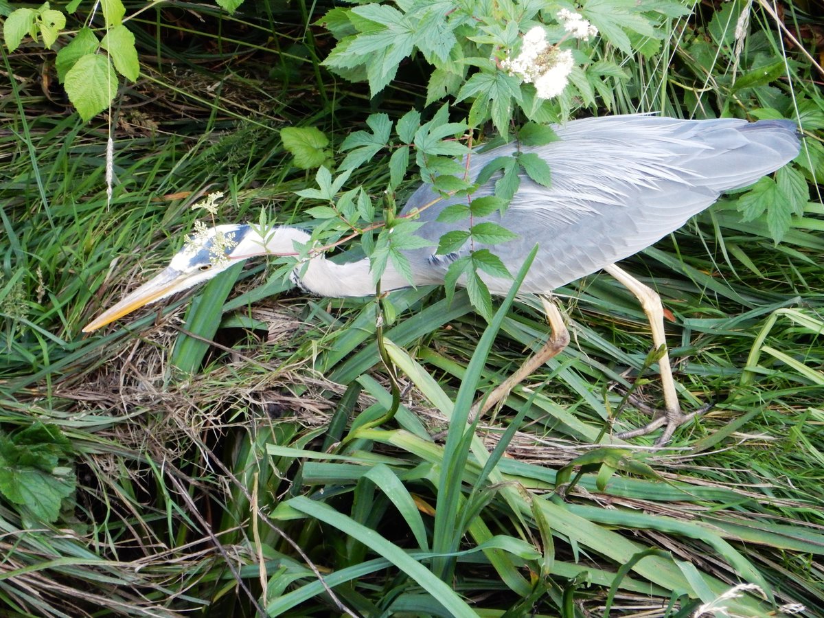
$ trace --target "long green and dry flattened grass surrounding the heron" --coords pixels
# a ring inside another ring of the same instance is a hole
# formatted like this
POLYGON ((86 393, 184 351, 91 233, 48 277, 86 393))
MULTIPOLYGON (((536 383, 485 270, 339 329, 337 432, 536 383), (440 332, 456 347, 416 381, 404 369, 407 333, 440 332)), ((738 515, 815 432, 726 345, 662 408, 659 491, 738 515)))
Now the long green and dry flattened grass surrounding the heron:
MULTIPOLYGON (((820 75, 754 9, 737 70, 794 64, 767 90, 734 91, 732 4, 700 7, 657 55, 626 66, 612 111, 783 105, 807 129, 812 177, 820 75)), ((32 54, 4 57, 22 77, 0 101, 0 430, 6 440, 53 424, 77 480, 54 524, 0 486, 5 611, 692 616, 714 603, 772 616, 798 603, 824 613, 814 192, 780 244, 766 219, 742 222, 725 199, 625 263, 672 312, 682 405, 714 403, 662 451, 653 438, 611 438, 645 422, 628 392, 651 407, 660 397, 643 312, 605 274, 558 291, 569 348, 474 424, 471 402, 545 338, 540 303, 499 304, 487 325, 464 293, 449 303, 437 288, 406 290, 380 310, 378 333, 375 302, 307 297, 279 265, 256 263, 194 302, 80 334, 166 264, 204 194, 227 194, 222 222, 265 208, 305 224, 294 191, 310 180, 278 129, 342 138, 363 121, 363 89, 319 64, 328 42, 307 29, 320 16, 311 6, 244 8, 227 18, 199 7, 203 22, 176 7, 176 21, 144 15, 138 40, 157 61, 117 111, 110 206, 105 124, 54 115, 32 54), (739 584, 757 588, 724 596, 739 584)), ((804 21, 785 13, 793 32, 804 21)), ((372 105, 408 109, 421 70, 404 67, 372 105)), ((381 164, 363 171, 376 195, 381 164)))

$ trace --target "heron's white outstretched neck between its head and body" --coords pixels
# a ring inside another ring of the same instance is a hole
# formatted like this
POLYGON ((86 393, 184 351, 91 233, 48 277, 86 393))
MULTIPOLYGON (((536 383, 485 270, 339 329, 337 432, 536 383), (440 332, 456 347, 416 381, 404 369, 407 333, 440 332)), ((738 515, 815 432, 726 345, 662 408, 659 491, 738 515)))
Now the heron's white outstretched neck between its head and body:
MULTIPOLYGON (((265 243, 258 241, 258 246, 265 245, 266 252, 274 255, 293 253, 295 242, 307 243, 310 235, 294 227, 279 227, 270 234, 265 243)), ((361 297, 372 296, 375 285, 369 260, 364 258, 355 262, 336 264, 326 260, 323 255, 311 258, 305 264, 297 266, 293 279, 308 292, 326 297, 361 297)), ((381 291, 388 292, 399 288, 409 288, 410 283, 396 271, 391 262, 381 278, 381 291)))

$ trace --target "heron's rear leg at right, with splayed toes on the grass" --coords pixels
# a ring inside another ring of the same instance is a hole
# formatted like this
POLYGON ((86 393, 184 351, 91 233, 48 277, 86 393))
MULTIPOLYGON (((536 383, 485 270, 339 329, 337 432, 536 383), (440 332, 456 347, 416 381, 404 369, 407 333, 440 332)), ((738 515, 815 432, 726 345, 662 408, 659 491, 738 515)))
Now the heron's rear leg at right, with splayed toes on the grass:
POLYGON ((681 424, 695 418, 696 415, 705 410, 699 410, 691 414, 683 414, 681 412, 681 405, 678 404, 678 394, 675 389, 675 378, 672 377, 672 368, 669 362, 669 353, 667 352, 667 337, 664 333, 664 308, 661 303, 661 297, 659 297, 652 288, 648 288, 644 283, 641 283, 638 279, 635 279, 632 275, 614 264, 606 266, 604 270, 615 277, 625 288, 630 290, 634 297, 638 298, 641 307, 644 308, 649 326, 652 329, 655 349, 664 350, 662 357, 658 360, 658 368, 661 372, 661 386, 664 391, 665 407, 663 414, 644 425, 644 427, 619 433, 617 438, 625 439, 643 436, 664 425, 664 433, 656 440, 656 444, 666 444, 670 438, 672 438, 672 433, 674 433, 681 424))

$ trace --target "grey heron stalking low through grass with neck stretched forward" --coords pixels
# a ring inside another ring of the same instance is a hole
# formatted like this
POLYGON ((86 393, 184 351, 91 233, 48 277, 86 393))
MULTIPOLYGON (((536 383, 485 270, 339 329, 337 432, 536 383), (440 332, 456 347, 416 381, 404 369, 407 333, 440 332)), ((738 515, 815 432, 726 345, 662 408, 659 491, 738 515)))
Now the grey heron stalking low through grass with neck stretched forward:
MULTIPOLYGON (((468 171, 472 179, 496 157, 514 152, 535 152, 550 166, 551 187, 538 185, 522 172, 521 184, 504 213, 495 212, 475 222, 497 222, 517 238, 489 246, 510 272, 536 244, 536 259, 521 293, 550 294, 555 288, 605 269, 639 298, 652 329, 656 349, 666 350, 660 297, 616 265, 683 226, 696 213, 713 204, 726 190, 751 185, 798 155, 797 128, 788 120, 742 119, 681 120, 653 115, 623 115, 573 120, 554 127, 559 140, 541 146, 517 143, 473 153, 468 171)), ((494 193, 494 177, 472 194, 478 198, 494 193)), ((438 221, 438 215, 461 198, 439 195, 431 185, 412 194, 401 216, 424 204, 435 204, 419 214, 423 225, 417 232, 432 246, 405 251, 415 286, 443 283, 452 262, 466 255, 468 247, 450 255, 436 255, 440 237, 466 222, 438 221)), ((310 235, 294 227, 276 227, 265 238, 249 225, 222 225, 207 234, 200 250, 184 249, 171 265, 104 311, 84 328, 96 330, 149 302, 213 278, 232 260, 213 260, 210 244, 216 236, 230 234, 233 245, 228 258, 293 253, 295 243, 307 243, 310 235)), ((475 246, 475 249, 482 248, 475 246)), ((508 279, 481 274, 490 292, 505 294, 508 279)), ((363 297, 375 293, 368 259, 336 264, 315 255, 296 269, 297 283, 311 293, 326 297, 363 297)), ((460 283, 460 282, 459 282, 460 283)), ((410 287, 402 274, 387 265, 382 291, 410 287)), ((517 382, 569 343, 558 310, 544 303, 552 334, 544 347, 527 359, 522 368, 497 387, 485 400, 484 409, 497 403, 517 382)), ((675 429, 695 414, 684 414, 678 403, 667 353, 658 361, 664 410, 649 424, 627 438, 664 426, 658 443, 665 443, 675 429)))

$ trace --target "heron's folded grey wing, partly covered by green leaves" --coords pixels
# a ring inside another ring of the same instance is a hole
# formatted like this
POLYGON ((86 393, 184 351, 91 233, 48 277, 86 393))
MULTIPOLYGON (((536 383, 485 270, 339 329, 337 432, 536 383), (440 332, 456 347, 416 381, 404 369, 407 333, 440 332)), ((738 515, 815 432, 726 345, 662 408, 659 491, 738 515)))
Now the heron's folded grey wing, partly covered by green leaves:
MULTIPOLYGON (((794 124, 784 121, 630 115, 577 120, 556 131, 558 142, 522 148, 549 164, 552 186, 536 185, 522 175, 503 219, 497 213, 488 218, 518 235, 489 247, 511 272, 539 245, 524 292, 550 292, 633 255, 684 225, 723 190, 750 185, 789 162, 799 148, 794 124)), ((513 151, 508 145, 473 155, 471 173, 477 175, 487 162, 513 151)), ((489 183, 474 197, 492 190, 489 183)), ((422 186, 405 211, 432 198, 432 190, 422 186)), ((466 228, 468 223, 436 221, 455 201, 444 199, 425 211, 420 233, 437 242, 446 232, 466 228)), ((419 253, 414 259, 421 283, 442 280, 451 260, 461 255, 419 253)), ((505 293, 510 285, 496 279, 487 283, 495 293, 505 293)))

